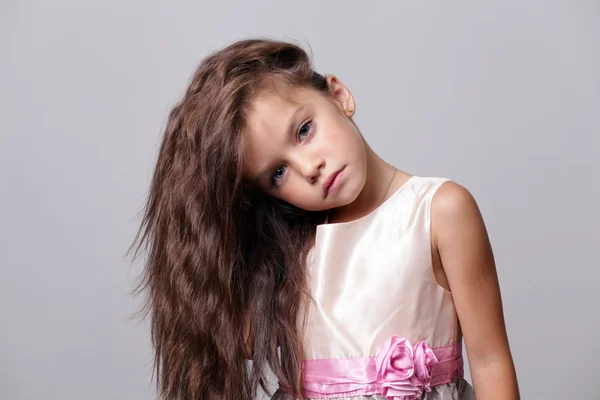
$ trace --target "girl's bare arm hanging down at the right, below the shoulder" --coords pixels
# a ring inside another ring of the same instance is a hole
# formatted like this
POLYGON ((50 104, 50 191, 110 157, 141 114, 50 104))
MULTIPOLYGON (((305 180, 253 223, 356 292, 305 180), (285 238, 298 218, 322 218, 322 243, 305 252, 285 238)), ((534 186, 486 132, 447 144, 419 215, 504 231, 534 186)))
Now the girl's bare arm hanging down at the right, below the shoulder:
POLYGON ((496 265, 479 207, 464 187, 444 183, 431 204, 434 247, 463 331, 477 400, 517 400, 496 265))

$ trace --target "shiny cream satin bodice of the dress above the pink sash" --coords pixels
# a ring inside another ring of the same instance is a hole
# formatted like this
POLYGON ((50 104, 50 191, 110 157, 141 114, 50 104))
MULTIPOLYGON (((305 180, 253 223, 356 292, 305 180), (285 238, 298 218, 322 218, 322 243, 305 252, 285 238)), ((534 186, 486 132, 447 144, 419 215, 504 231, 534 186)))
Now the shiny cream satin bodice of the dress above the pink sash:
POLYGON ((413 176, 370 214, 317 227, 302 324, 306 362, 375 357, 393 336, 431 348, 461 343, 452 295, 437 283, 431 258, 431 201, 447 181, 413 176))

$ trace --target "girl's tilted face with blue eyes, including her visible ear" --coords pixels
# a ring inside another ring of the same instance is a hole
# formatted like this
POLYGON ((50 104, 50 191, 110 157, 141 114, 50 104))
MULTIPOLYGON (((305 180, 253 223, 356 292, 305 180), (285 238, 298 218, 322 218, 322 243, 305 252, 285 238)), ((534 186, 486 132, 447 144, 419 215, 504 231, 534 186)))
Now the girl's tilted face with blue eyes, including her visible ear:
POLYGON ((308 88, 263 91, 244 137, 247 178, 308 211, 352 203, 366 180, 365 144, 350 120, 354 98, 337 78, 327 81, 330 97, 308 88))

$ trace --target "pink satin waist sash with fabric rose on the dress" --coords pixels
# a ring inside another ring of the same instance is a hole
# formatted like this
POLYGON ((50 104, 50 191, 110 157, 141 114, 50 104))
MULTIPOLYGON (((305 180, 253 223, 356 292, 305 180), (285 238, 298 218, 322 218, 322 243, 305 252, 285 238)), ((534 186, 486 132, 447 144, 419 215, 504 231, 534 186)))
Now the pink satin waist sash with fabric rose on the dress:
POLYGON ((420 399, 432 386, 463 377, 460 343, 430 348, 392 336, 375 357, 305 360, 303 395, 308 398, 382 394, 420 399))

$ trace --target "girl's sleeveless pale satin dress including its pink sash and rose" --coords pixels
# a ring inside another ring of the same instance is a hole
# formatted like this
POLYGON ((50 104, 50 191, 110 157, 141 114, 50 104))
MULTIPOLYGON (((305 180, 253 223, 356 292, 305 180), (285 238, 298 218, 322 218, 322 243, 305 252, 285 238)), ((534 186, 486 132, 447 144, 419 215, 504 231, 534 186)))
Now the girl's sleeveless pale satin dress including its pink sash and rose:
POLYGON ((317 227, 305 398, 474 399, 452 295, 432 268, 431 200, 447 181, 413 176, 370 214, 317 227))

